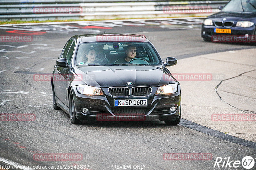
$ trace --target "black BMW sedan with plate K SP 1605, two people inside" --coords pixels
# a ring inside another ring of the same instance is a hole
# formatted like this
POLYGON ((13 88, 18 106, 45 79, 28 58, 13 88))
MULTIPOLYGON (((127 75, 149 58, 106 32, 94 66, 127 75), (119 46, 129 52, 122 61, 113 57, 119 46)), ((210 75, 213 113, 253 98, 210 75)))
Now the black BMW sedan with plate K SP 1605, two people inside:
POLYGON ((181 117, 180 84, 152 43, 141 35, 88 34, 71 37, 52 73, 53 108, 79 120, 164 121, 181 117))

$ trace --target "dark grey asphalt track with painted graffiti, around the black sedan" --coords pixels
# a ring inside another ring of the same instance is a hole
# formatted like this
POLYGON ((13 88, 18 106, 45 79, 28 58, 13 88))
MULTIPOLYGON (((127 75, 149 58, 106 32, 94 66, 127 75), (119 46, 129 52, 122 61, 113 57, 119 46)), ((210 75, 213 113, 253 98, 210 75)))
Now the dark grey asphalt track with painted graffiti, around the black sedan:
MULTIPOLYGON (((204 42, 200 37, 201 22, 180 19, 0 27, 1 36, 33 37, 25 42, 0 42, 0 113, 36 115, 34 121, 0 121, 0 157, 26 166, 55 166, 52 169, 60 169, 58 165, 86 165, 83 169, 93 170, 131 165, 131 169, 167 170, 224 169, 213 168, 217 157, 241 161, 245 156, 255 156, 255 143, 183 119, 177 126, 166 126, 161 121, 71 124, 64 111, 52 108, 51 81, 33 79, 36 73, 51 74, 66 41, 78 34, 143 34, 163 60, 168 56, 182 59, 255 48, 249 44, 204 42), (38 154, 60 153, 82 155, 82 159, 35 158, 38 154), (212 158, 164 160, 165 153, 207 153, 212 158)), ((244 168, 240 165, 226 169, 244 168)))

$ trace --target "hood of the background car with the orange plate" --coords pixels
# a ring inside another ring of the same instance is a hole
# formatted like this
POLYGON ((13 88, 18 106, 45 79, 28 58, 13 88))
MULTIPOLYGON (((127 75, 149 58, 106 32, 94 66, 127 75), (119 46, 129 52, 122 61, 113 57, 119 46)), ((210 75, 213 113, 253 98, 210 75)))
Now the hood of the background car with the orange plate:
POLYGON ((227 21, 251 21, 255 20, 256 13, 218 12, 207 18, 213 19, 214 21, 223 20, 223 18, 226 18, 227 21))

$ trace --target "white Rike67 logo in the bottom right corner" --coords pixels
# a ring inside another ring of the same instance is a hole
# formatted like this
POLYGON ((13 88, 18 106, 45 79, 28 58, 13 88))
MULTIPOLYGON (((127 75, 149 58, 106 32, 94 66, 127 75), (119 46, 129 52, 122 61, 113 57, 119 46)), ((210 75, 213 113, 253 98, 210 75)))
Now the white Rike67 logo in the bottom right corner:
POLYGON ((254 159, 251 156, 245 156, 242 161, 240 160, 230 160, 230 157, 222 159, 217 157, 214 163, 214 168, 238 168, 243 166, 245 169, 251 169, 254 166, 254 159))

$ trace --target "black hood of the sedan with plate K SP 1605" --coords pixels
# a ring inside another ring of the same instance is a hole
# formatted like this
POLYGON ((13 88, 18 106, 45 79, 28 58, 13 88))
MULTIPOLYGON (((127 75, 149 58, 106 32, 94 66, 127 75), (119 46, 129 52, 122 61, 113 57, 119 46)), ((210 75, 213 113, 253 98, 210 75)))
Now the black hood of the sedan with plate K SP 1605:
MULTIPOLYGON (((79 66, 74 72, 89 86, 113 87, 126 86, 163 86, 176 83, 165 67, 156 66, 79 66)), ((172 75, 171 75, 172 77, 172 75)), ((173 77, 172 77, 173 78, 173 77)))

